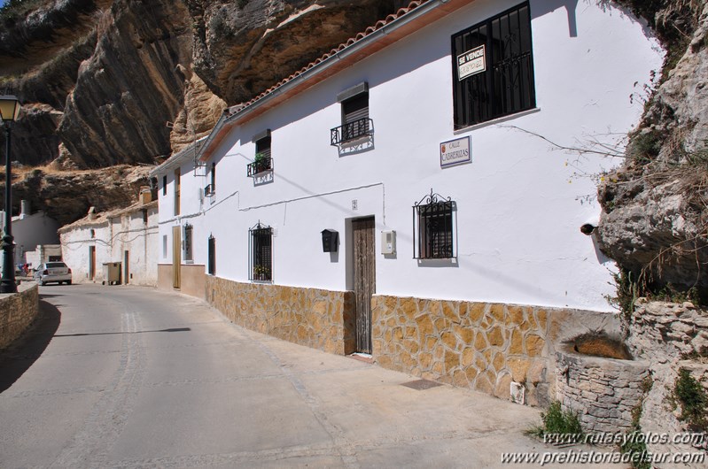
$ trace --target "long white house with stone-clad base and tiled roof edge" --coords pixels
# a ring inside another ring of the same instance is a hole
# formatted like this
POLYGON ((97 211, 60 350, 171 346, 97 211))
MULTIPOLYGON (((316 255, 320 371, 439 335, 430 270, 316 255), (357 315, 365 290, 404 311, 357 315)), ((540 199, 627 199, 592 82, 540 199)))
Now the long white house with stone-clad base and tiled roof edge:
POLYGON ((542 387, 554 321, 612 311, 580 227, 619 160, 558 146, 618 144, 662 60, 594 0, 412 2, 152 172, 159 286, 408 373, 542 387))

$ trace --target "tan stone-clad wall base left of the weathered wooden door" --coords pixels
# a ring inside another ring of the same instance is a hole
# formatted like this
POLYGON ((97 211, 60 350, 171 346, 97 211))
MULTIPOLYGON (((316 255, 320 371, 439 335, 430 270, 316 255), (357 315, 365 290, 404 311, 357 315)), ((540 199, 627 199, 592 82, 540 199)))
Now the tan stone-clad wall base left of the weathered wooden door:
POLYGON ((206 301, 239 326, 313 349, 354 351, 354 294, 206 276, 206 301))

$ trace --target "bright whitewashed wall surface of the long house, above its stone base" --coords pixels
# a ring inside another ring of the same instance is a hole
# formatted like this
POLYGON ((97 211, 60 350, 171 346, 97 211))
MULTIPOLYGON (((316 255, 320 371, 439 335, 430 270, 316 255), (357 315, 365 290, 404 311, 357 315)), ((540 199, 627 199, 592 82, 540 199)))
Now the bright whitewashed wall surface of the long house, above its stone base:
POLYGON ((475 2, 235 128, 207 162, 217 166, 213 199, 200 203, 208 178, 184 163, 177 218, 169 170, 167 196, 159 191, 160 262, 172 262, 170 227, 189 221, 195 263, 206 264, 213 234, 217 275, 247 281, 248 228, 260 220, 276 228, 276 284, 343 290, 351 288, 346 220, 373 215, 379 294, 610 310, 603 296, 613 263, 579 228, 600 211, 592 176, 619 161, 555 150, 536 135, 565 146, 616 141, 637 122, 642 103, 630 95, 663 52, 627 12, 532 1, 537 109, 454 132, 450 36, 515 4, 475 2), (362 81, 375 149, 339 156, 329 144, 340 123, 336 96, 362 81), (267 128, 274 181, 255 186, 245 175, 251 139, 267 128), (471 164, 441 169, 440 142, 466 135, 471 164), (412 258, 411 207, 431 189, 457 204, 455 262, 412 258), (338 230, 338 255, 322 252, 324 228, 338 230), (379 254, 383 229, 397 232, 396 256, 379 254))

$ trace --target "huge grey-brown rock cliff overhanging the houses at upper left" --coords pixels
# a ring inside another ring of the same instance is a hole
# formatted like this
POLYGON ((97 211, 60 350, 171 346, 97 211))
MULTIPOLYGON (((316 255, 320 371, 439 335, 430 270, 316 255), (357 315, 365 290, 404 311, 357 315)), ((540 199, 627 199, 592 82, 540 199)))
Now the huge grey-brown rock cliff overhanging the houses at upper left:
MULTIPOLYGON (((0 10, 0 92, 23 104, 12 158, 71 170, 155 164, 207 135, 224 108, 258 95, 403 4, 10 1, 0 10)), ((67 213, 87 208, 64 202, 67 213)))

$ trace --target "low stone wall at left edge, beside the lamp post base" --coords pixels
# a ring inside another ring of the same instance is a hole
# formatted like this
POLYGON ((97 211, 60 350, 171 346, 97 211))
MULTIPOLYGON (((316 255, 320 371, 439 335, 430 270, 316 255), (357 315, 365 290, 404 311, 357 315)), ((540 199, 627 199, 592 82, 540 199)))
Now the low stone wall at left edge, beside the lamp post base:
POLYGON ((39 289, 34 282, 22 283, 18 293, 0 295, 0 349, 17 339, 37 316, 39 289))

